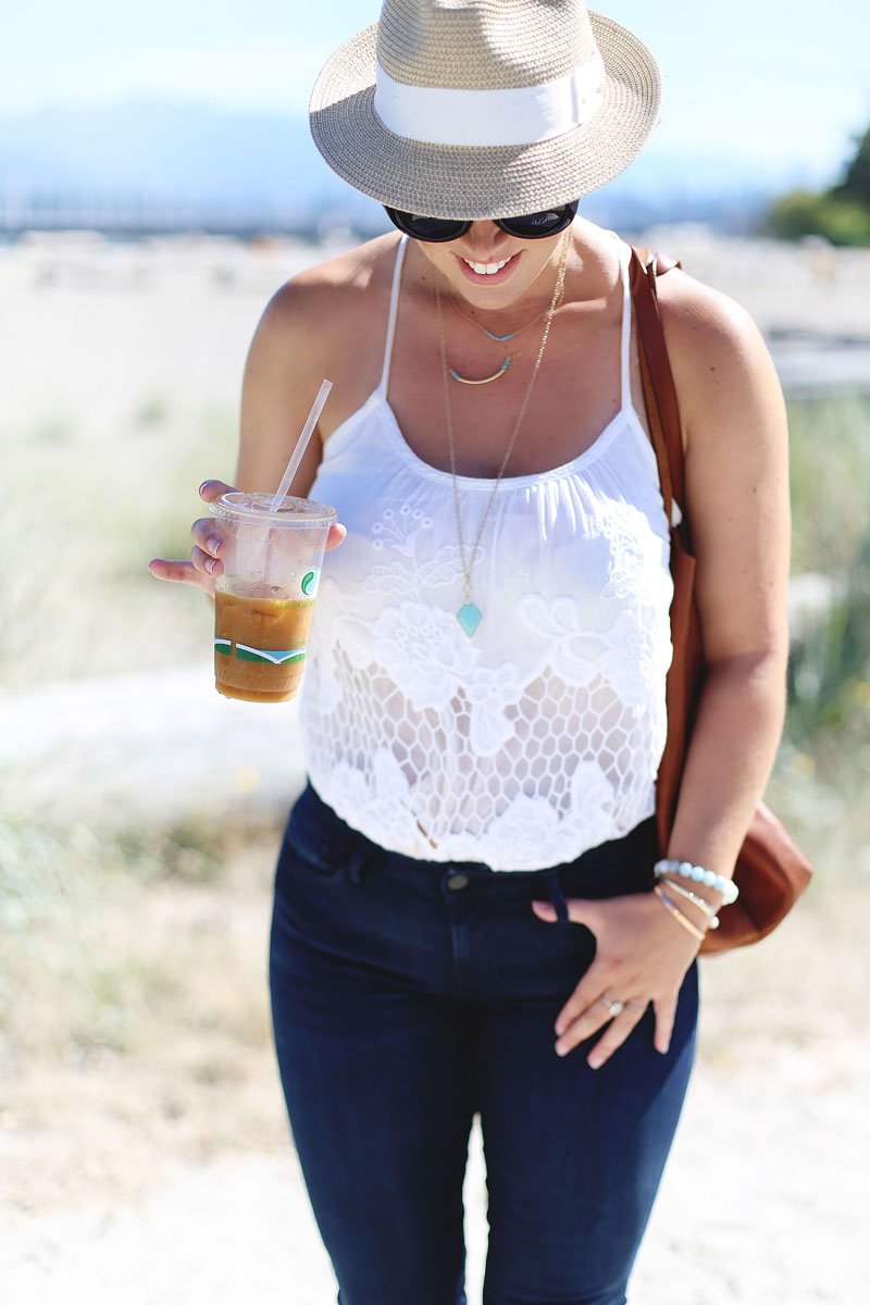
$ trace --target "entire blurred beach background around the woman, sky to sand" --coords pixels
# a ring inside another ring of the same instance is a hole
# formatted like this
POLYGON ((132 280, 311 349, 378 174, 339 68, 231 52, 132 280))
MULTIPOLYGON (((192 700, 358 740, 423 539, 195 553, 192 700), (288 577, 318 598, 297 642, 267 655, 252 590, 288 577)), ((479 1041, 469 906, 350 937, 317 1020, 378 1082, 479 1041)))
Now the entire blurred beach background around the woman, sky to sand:
MULTIPOLYGON (((698 1075, 634 1301, 852 1302, 870 1143, 870 18, 858 0, 607 12, 656 54, 665 107, 583 211, 743 303, 788 399, 792 662, 768 800, 817 867, 779 933, 703 964, 698 1075)), ((265 985, 295 707, 218 698, 209 604, 145 564, 185 556, 197 485, 232 475, 271 294, 386 230, 305 116, 325 59, 377 14, 34 0, 4 17, 0 1280, 16 1305, 334 1300, 265 985)), ((476 1135, 467 1206, 476 1302, 476 1135)))

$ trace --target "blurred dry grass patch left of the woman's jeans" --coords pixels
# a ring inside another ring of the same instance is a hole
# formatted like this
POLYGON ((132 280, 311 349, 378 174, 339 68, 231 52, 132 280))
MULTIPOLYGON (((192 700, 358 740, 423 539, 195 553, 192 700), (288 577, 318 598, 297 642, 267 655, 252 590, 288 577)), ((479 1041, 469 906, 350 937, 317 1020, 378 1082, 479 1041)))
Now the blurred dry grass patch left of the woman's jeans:
POLYGON ((286 1144, 265 983, 278 830, 0 838, 0 1199, 134 1193, 180 1159, 286 1144))

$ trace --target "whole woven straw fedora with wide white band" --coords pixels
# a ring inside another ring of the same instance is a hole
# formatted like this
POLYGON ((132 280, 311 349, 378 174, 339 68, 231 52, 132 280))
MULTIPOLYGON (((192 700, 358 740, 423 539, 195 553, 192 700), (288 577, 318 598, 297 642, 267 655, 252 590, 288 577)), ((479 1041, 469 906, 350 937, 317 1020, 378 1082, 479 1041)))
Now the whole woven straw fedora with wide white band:
POLYGON ((314 144, 355 189, 433 218, 597 189, 659 120, 661 73, 582 0, 383 0, 314 86, 314 144))

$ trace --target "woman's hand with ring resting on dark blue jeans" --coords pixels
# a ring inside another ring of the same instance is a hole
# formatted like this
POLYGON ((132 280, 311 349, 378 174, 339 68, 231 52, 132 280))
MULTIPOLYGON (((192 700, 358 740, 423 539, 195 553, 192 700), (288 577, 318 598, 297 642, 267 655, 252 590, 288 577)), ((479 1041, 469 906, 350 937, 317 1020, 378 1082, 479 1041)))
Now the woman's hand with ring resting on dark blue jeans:
MULTIPOLYGON (((673 920, 652 893, 592 900, 569 898, 569 919, 595 934, 595 959, 556 1021, 556 1051, 566 1056, 607 1024, 588 1064, 600 1065, 622 1045, 652 1002, 656 1051, 668 1051, 680 988, 700 944, 673 920), (621 1010, 614 1006, 621 1004, 621 1010)), ((549 902, 535 902, 540 920, 556 921, 549 902)))

